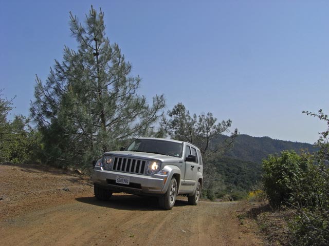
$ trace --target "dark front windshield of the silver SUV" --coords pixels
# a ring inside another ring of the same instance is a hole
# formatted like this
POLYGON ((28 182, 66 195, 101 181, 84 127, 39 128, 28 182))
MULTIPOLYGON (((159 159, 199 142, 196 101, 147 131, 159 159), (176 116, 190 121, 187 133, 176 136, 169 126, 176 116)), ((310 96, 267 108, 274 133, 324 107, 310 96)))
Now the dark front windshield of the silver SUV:
POLYGON ((183 144, 159 139, 136 139, 126 150, 181 157, 183 144))

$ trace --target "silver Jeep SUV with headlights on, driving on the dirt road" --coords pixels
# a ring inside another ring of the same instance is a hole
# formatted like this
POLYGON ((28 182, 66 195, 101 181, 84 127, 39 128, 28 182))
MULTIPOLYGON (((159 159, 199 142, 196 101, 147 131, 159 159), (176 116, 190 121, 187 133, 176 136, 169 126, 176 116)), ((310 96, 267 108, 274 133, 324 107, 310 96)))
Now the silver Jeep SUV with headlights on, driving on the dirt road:
POLYGON ((158 196, 160 207, 170 210, 177 195, 187 195, 196 205, 203 183, 202 157, 189 142, 137 138, 123 151, 104 153, 92 180, 100 200, 114 192, 158 196))

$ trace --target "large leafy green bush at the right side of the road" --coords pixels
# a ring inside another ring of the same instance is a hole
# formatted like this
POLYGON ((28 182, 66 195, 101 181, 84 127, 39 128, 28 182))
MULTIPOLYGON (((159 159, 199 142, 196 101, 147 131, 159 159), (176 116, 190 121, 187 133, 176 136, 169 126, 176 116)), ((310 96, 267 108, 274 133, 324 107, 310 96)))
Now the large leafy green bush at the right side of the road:
POLYGON ((295 213, 289 219, 293 245, 329 245, 329 169, 320 159, 284 151, 263 161, 271 206, 285 204, 295 213))

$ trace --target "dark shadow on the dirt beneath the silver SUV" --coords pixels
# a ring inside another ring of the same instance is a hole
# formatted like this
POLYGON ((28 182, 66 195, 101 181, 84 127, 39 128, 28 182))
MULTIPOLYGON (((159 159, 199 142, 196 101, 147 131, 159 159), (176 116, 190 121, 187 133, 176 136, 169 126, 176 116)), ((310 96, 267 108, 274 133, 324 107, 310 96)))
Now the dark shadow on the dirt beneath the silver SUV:
MULTIPOLYGON (((175 207, 188 206, 186 200, 184 198, 178 197, 175 202, 175 207)), ((95 206, 112 208, 118 210, 131 210, 131 211, 157 211, 162 210, 159 207, 158 199, 156 197, 143 197, 136 195, 112 195, 112 197, 108 201, 100 201, 97 200, 95 196, 91 197, 78 197, 77 201, 92 204, 95 206)))

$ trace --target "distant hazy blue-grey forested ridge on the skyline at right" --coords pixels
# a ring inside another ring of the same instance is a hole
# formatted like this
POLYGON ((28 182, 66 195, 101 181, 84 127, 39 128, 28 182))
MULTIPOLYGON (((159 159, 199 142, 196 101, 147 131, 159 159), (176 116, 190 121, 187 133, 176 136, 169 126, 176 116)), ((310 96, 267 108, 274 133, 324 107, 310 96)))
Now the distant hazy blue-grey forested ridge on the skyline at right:
POLYGON ((306 150, 312 153, 316 148, 302 142, 283 141, 269 137, 252 137, 242 134, 235 138, 233 147, 225 153, 225 156, 261 163, 262 159, 269 154, 280 154, 284 150, 294 150, 297 153, 306 150))

